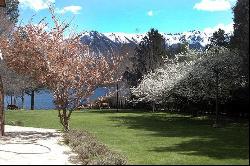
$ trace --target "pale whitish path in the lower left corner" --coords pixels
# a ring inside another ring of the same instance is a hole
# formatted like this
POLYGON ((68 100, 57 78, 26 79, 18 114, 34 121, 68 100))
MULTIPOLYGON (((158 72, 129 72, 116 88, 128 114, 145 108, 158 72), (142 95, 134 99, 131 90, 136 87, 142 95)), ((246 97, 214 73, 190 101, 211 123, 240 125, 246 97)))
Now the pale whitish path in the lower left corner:
POLYGON ((0 165, 72 165, 73 155, 54 129, 5 126, 0 137, 0 165))

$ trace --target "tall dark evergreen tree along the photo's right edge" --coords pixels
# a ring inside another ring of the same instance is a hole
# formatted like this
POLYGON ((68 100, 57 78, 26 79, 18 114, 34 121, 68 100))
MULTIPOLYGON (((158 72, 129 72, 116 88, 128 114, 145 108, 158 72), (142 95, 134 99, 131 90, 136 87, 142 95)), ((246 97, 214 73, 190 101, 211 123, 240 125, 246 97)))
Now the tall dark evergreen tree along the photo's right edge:
POLYGON ((247 82, 245 87, 233 91, 232 94, 236 103, 249 108, 249 0, 238 0, 233 8, 233 13, 234 35, 230 44, 233 49, 239 51, 239 56, 243 61, 241 73, 247 78, 247 82))

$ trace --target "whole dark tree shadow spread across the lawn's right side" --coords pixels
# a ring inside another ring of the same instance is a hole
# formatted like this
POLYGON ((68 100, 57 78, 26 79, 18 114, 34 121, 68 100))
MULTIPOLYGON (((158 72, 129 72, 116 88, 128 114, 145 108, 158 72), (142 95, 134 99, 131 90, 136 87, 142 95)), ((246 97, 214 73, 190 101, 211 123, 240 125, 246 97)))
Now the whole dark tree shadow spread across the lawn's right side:
POLYGON ((249 125, 225 123, 213 128, 207 118, 177 114, 138 114, 111 116, 110 120, 130 129, 151 131, 155 137, 176 137, 179 144, 153 147, 154 152, 176 152, 216 159, 249 159, 249 125), (189 141, 181 138, 190 138, 189 141))

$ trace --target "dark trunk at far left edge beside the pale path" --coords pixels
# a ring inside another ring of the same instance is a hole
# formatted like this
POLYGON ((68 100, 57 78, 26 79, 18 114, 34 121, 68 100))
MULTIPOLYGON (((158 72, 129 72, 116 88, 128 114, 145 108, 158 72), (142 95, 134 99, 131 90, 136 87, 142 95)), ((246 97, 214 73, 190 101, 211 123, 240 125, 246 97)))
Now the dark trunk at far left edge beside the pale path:
POLYGON ((0 136, 4 136, 4 91, 2 77, 0 76, 0 136))

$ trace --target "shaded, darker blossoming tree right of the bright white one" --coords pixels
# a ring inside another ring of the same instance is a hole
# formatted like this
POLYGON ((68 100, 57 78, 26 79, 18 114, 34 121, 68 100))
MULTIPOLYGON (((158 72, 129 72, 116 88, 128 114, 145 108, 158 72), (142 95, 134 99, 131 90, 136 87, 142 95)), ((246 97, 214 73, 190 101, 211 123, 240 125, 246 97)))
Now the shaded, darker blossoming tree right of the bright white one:
POLYGON ((240 75, 241 63, 237 52, 221 47, 207 50, 179 83, 175 93, 193 101, 215 100, 218 90, 217 97, 225 102, 232 90, 246 84, 246 78, 240 75))

